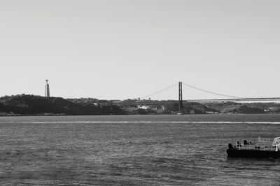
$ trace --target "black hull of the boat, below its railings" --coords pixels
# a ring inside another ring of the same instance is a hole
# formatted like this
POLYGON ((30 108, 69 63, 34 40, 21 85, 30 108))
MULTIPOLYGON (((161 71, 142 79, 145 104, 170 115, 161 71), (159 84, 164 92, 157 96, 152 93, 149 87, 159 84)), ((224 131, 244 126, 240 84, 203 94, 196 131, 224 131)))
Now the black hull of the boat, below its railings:
POLYGON ((272 150, 248 150, 232 148, 227 150, 228 157, 253 157, 253 158, 280 158, 280 151, 272 150))

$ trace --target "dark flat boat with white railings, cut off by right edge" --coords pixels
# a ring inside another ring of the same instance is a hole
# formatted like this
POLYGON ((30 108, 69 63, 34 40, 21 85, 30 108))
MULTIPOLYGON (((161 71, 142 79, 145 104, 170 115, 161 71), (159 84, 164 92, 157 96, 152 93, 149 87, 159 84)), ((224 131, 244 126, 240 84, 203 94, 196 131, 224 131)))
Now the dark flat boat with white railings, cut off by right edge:
POLYGON ((252 141, 236 141, 235 146, 228 144, 228 157, 280 158, 280 137, 260 138, 252 141))

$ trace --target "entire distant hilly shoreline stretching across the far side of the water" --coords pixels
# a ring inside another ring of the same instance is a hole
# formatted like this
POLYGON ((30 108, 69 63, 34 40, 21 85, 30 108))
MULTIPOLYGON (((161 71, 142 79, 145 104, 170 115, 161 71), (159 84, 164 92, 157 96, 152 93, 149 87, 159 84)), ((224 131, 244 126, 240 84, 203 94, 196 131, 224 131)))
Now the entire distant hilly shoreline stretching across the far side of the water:
MULTIPOLYGON (((0 116, 76 116, 76 115, 148 115, 177 114, 179 102, 173 100, 97 100, 64 99, 38 95, 13 95, 0 98, 0 116)), ((183 114, 278 114, 280 104, 274 102, 184 102, 183 114)))

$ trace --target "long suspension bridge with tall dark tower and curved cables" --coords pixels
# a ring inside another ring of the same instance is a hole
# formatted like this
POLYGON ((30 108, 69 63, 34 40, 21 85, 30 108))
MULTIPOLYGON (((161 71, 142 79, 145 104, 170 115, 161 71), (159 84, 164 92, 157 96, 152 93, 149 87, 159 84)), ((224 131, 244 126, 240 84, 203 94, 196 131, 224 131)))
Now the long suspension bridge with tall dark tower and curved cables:
MULTIPOLYGON (((271 101, 271 102, 275 102, 275 101, 280 101, 279 97, 274 97, 274 98, 241 98, 238 96, 233 96, 233 95, 225 95, 222 93, 216 93, 213 91, 207 91, 203 88, 198 88, 196 86, 192 86, 190 84, 186 84, 183 82, 179 82, 176 84, 172 84, 171 86, 168 86, 167 88, 163 88, 160 91, 156 91, 155 93, 151 93, 148 95, 144 95, 140 98, 138 98, 138 100, 134 100, 134 104, 140 104, 140 105, 151 105, 151 104, 171 104, 171 103, 179 103, 179 111, 182 110, 183 108, 183 104, 185 104, 186 102, 200 102, 200 103, 205 103, 205 102, 264 102, 264 101, 271 101), (179 99, 178 100, 146 100, 145 98, 151 98, 151 96, 153 95, 157 95, 159 93, 163 93, 167 90, 169 90, 170 88, 174 88, 175 86, 179 86, 179 99), (188 87, 188 88, 192 88, 196 91, 200 91, 203 93, 207 93, 210 95, 216 95, 219 98, 208 98, 208 99, 193 99, 193 100, 183 100, 183 86, 188 87), (222 97, 222 98, 221 98, 222 97)), ((125 105, 125 104, 130 104, 129 102, 119 102, 118 105, 125 105)))

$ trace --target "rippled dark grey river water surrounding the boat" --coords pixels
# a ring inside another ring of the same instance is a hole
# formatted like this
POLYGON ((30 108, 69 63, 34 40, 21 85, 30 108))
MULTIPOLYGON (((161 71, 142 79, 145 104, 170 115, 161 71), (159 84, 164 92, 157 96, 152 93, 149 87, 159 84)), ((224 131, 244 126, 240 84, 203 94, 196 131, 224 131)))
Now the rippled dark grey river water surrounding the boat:
POLYGON ((280 160, 228 158, 280 115, 0 118, 1 185, 279 185, 280 160))

